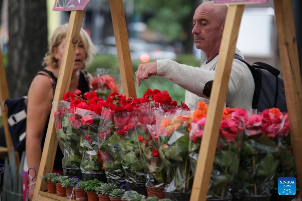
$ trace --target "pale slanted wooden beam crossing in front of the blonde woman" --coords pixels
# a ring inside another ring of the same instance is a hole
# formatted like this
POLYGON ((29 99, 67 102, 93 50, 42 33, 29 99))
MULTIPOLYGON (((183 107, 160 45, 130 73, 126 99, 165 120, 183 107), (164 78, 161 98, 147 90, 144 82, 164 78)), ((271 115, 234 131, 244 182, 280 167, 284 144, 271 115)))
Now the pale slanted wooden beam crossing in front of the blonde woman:
MULTIPOLYGON (((54 93, 54 100, 63 98, 63 94, 69 91, 70 80, 73 70, 74 58, 78 41, 80 38, 80 30, 83 23, 85 10, 71 11, 68 24, 66 43, 64 46, 62 63, 60 66, 59 77, 57 81, 56 91, 54 93)), ((46 190, 46 183, 43 185, 41 177, 45 173, 52 172, 54 166, 54 158, 57 150, 57 132, 54 124, 54 111, 51 110, 50 120, 48 123, 46 139, 42 152, 39 172, 37 175, 37 184, 35 188, 35 195, 39 195, 39 191, 46 190)), ((39 195, 40 196, 40 195, 39 195)))

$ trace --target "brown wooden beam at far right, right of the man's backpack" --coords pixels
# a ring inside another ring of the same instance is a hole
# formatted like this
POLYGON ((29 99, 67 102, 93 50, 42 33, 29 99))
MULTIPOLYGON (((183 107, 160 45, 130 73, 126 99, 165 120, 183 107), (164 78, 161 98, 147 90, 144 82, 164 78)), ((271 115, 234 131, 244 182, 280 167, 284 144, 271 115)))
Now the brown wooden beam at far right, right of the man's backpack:
POLYGON ((297 169, 297 180, 301 186, 302 152, 300 148, 302 147, 302 84, 292 2, 288 0, 274 0, 274 7, 286 105, 291 126, 291 141, 297 169))

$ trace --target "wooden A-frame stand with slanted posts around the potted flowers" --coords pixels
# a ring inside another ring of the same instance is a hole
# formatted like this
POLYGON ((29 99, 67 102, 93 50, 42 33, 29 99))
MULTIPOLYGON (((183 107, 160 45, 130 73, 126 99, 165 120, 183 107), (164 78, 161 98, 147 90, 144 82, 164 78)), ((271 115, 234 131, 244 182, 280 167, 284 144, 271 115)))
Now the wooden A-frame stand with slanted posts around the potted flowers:
MULTIPOLYGON (((136 97, 122 0, 109 0, 109 2, 124 94, 128 97, 136 97)), ((302 133, 300 133, 302 130, 302 124, 299 121, 302 119, 302 85, 292 3, 289 0, 274 0, 274 7, 287 109, 291 125, 291 139, 297 169, 297 180, 301 183, 302 152, 300 152, 299 148, 302 146, 302 133)), ((200 157, 196 167, 190 199, 191 201, 206 200, 219 132, 219 126, 216 125, 220 124, 223 104, 226 100, 227 84, 229 82, 231 64, 235 53, 235 46, 243 10, 244 5, 231 5, 228 10, 222 43, 219 50, 216 75, 211 92, 207 122, 200 147, 200 157)), ((67 32, 67 43, 63 54, 63 62, 60 67, 54 100, 61 99, 63 94, 68 91, 83 16, 84 10, 71 11, 67 32)), ((43 148, 39 174, 37 175, 36 190, 34 193, 39 201, 68 200, 67 198, 43 192, 46 190, 46 186, 43 185, 41 176, 47 172, 51 172, 54 164, 53 153, 55 153, 56 149, 57 138, 52 111, 43 148)))

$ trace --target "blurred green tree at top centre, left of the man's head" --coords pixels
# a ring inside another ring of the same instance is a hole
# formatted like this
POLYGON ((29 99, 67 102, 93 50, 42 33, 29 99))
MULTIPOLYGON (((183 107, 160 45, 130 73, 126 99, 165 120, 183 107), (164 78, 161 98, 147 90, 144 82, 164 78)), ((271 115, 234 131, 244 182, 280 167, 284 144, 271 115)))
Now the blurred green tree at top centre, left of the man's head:
POLYGON ((201 0, 173 0, 154 1, 136 0, 135 11, 143 14, 151 14, 148 19, 148 27, 163 35, 165 40, 181 41, 184 51, 192 53, 193 35, 192 19, 195 9, 202 3, 201 0))

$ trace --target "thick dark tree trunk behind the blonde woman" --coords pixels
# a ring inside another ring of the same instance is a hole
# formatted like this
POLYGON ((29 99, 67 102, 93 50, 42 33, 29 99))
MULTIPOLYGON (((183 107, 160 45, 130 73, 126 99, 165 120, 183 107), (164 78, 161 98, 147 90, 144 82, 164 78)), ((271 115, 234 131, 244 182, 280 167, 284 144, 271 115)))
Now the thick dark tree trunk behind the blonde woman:
POLYGON ((8 1, 8 66, 10 97, 27 95, 47 52, 46 1, 8 1))

